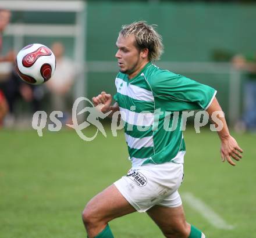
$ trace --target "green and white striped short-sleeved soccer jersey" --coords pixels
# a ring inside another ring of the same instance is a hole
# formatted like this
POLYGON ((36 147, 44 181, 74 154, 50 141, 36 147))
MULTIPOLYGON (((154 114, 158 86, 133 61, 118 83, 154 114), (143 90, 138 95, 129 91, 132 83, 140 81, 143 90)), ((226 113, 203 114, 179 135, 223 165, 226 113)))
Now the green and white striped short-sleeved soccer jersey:
POLYGON ((181 112, 207 109, 215 89, 161 70, 151 62, 130 80, 127 74, 118 73, 115 84, 114 99, 119 104, 133 167, 168 161, 183 163, 186 148, 180 129, 181 112), (173 122, 176 128, 172 128, 173 122))

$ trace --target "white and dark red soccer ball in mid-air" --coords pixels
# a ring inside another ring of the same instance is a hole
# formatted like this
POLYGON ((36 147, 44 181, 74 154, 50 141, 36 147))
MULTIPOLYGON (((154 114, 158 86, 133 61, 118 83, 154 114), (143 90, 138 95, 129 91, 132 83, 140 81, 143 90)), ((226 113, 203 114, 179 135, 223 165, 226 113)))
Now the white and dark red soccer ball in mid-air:
POLYGON ((17 73, 29 84, 42 84, 48 81, 54 74, 55 67, 54 53, 45 45, 27 45, 16 57, 17 73))

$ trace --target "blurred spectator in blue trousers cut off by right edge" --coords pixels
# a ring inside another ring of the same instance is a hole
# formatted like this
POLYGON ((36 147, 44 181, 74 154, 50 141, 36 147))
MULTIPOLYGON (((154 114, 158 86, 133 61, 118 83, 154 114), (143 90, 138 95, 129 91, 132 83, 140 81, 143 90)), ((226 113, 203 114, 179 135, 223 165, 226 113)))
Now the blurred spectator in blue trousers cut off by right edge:
POLYGON ((241 120, 235 125, 235 129, 237 131, 256 131, 256 53, 251 58, 236 55, 232 61, 234 67, 246 71, 245 110, 241 120))

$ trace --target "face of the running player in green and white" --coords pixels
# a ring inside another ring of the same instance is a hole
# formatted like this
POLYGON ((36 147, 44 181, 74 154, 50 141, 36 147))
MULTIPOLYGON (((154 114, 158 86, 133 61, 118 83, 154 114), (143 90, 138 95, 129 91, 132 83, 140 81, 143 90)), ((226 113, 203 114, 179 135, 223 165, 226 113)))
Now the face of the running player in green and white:
POLYGON ((141 52, 138 51, 135 44, 134 35, 130 35, 129 37, 119 35, 116 41, 118 52, 116 52, 115 57, 118 59, 120 72, 124 74, 133 74, 140 66, 141 60, 143 60, 141 52))

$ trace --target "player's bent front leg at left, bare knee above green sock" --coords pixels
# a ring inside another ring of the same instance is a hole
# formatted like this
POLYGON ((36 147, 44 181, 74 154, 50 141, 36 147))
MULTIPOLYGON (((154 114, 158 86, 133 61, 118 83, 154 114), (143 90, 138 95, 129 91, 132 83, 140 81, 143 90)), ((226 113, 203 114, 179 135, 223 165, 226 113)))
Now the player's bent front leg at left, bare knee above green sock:
POLYGON ((111 185, 91 199, 83 211, 83 222, 88 237, 111 238, 108 222, 136 211, 122 196, 115 185, 111 185))

